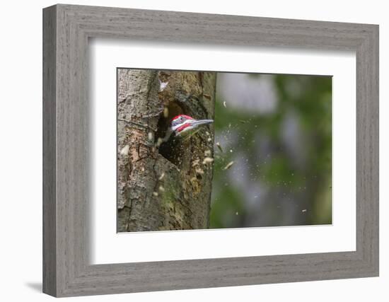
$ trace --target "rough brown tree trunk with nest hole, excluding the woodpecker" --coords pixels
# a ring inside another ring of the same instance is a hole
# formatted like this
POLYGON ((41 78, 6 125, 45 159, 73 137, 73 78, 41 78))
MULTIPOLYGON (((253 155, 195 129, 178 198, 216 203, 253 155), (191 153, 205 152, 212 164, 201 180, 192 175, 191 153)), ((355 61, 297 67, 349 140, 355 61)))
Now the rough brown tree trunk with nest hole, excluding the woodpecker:
POLYGON ((213 125, 170 147, 158 138, 175 115, 214 118, 216 73, 117 73, 117 231, 208 228, 213 125))

